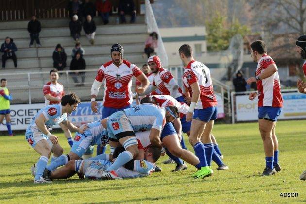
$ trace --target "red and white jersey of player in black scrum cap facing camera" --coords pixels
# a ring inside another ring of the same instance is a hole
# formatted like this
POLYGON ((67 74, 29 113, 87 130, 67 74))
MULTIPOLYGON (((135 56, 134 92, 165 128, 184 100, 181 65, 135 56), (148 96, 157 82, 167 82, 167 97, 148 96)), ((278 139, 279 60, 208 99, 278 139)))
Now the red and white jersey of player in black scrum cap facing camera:
POLYGON ((140 74, 141 70, 127 60, 123 60, 119 67, 113 61, 102 65, 98 69, 96 80, 102 82, 105 79, 103 106, 122 108, 132 104, 132 77, 140 74))

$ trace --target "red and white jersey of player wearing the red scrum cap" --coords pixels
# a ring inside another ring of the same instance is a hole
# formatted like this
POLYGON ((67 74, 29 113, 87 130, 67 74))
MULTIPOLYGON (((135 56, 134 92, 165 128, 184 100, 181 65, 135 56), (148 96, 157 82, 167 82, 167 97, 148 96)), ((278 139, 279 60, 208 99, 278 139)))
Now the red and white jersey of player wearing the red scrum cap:
MULTIPOLYGON (((153 78, 153 86, 157 86, 157 89, 154 91, 155 94, 158 95, 170 95, 171 86, 169 85, 169 82, 171 79, 174 79, 173 75, 170 71, 160 68, 157 73, 154 73, 153 78)), ((175 80, 175 79, 174 79, 175 80)), ((182 89, 178 88, 175 93, 173 93, 174 98, 178 98, 180 96, 183 96, 182 89)))

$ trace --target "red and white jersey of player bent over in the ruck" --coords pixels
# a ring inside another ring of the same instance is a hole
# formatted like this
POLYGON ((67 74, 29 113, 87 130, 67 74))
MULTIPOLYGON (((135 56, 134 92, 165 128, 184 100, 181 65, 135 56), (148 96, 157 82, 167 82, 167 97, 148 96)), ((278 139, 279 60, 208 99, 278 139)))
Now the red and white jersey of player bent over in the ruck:
POLYGON ((157 105, 160 107, 165 108, 170 105, 177 107, 180 112, 180 118, 184 117, 189 110, 189 106, 186 103, 178 102, 170 95, 152 95, 151 97, 155 97, 157 105))

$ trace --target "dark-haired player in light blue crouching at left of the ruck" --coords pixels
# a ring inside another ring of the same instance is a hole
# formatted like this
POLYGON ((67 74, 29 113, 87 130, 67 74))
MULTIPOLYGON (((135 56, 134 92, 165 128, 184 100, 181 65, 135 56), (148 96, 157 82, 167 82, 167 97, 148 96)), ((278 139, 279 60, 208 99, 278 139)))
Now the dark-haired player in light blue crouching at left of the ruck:
MULTIPOLYGON (((36 183, 50 183, 45 180, 42 174, 49 161, 51 152, 55 157, 60 156, 63 153, 63 148, 58 143, 58 138, 52 135, 49 130, 53 126, 63 123, 71 131, 77 131, 83 133, 87 128, 87 125, 82 128, 77 128, 67 119, 67 114, 72 113, 78 104, 80 99, 75 93, 67 94, 63 96, 61 104, 48 105, 41 110, 32 118, 30 125, 28 126, 25 138, 31 147, 41 155, 37 161, 37 171, 34 179, 36 183)), ((52 157, 52 159, 54 159, 52 157)))

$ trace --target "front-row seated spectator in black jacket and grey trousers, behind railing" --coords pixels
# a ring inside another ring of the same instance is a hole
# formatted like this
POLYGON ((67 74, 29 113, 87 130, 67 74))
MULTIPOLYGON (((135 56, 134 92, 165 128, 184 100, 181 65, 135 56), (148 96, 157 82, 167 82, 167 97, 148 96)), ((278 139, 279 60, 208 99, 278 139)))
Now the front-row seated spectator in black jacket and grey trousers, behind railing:
POLYGON ((76 52, 75 53, 75 57, 71 60, 70 63, 70 70, 74 71, 71 72, 71 76, 72 79, 74 81, 74 83, 79 83, 78 77, 81 76, 81 84, 77 84, 77 86, 82 86, 84 85, 84 81, 85 81, 85 72, 80 72, 79 70, 84 70, 86 68, 86 62, 83 59, 82 55, 80 54, 80 52, 76 52))

